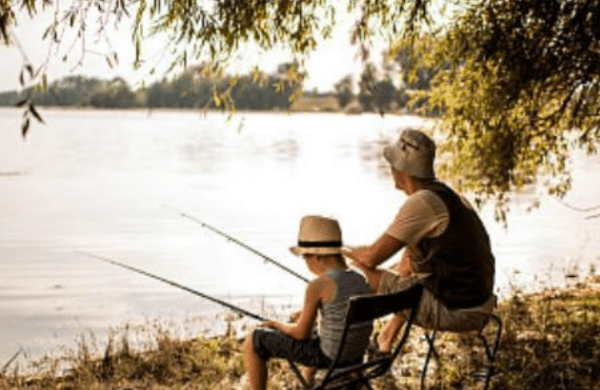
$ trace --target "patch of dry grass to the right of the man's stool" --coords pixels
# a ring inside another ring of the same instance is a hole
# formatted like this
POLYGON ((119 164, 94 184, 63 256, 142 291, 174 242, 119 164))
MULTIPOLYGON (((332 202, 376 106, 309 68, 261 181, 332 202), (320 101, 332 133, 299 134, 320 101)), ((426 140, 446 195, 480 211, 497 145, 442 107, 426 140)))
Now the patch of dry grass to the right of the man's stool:
POLYGON ((497 388, 600 389, 600 289, 594 281, 515 295, 504 305, 497 388))

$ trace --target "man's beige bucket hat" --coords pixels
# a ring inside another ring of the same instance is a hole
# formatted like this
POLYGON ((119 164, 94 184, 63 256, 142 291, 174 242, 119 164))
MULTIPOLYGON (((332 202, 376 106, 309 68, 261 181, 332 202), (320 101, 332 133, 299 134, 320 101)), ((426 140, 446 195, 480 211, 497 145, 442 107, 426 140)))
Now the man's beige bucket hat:
POLYGON ((420 130, 403 130, 395 144, 383 149, 383 157, 396 170, 420 179, 435 179, 435 142, 420 130))

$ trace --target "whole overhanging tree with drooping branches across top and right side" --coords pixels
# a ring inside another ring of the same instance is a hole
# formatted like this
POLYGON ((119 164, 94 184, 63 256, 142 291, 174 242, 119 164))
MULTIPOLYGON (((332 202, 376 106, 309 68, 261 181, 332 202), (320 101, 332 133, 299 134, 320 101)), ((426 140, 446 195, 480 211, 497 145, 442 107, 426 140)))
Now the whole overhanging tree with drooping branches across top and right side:
MULTIPOLYGON (((0 0, 0 38, 10 43, 15 9, 22 7, 35 17, 48 4, 49 0, 0 0)), ((85 35, 94 12, 104 16, 99 18, 101 31, 112 19, 133 15, 138 65, 147 32, 170 38, 174 66, 185 68, 192 59, 206 58, 222 65, 248 42, 262 50, 285 46, 301 56, 308 54, 321 37, 331 35, 337 12, 345 5, 349 14, 359 14, 349 37, 360 45, 365 64, 369 39, 383 35, 412 45, 418 54, 415 67, 433 70, 424 101, 430 111, 441 113, 445 141, 441 151, 453 154, 443 160, 448 162, 443 172, 459 177, 457 184, 474 191, 480 201, 495 199, 499 217, 507 194, 539 177, 548 179, 551 193, 563 195, 570 183, 570 149, 596 151, 600 0, 348 0, 342 7, 339 4, 334 0, 83 0, 57 15, 46 36, 60 41, 64 28, 85 35), (442 19, 437 10, 444 9, 442 19)), ((25 64, 25 76, 35 79, 40 73, 44 70, 25 64)), ((31 104, 23 105, 27 115, 34 115, 31 104)))

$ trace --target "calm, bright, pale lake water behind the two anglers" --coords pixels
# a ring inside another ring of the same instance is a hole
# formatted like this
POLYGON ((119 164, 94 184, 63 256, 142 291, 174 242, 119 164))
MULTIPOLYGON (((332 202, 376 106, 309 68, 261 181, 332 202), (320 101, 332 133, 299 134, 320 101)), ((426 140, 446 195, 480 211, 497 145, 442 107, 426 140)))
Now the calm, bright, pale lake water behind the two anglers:
MULTIPOLYGON (((24 142, 21 112, 0 110, 0 365, 73 346, 80 334, 157 318, 222 328, 219 307, 86 251, 257 312, 296 307, 304 283, 215 233, 212 224, 309 277, 287 248, 302 215, 338 218, 348 244, 373 241, 403 195, 381 143, 412 117, 147 111, 43 112, 24 142)), ((565 202, 598 205, 598 158, 575 158, 565 202)), ((600 218, 516 197, 509 228, 482 212, 497 288, 536 288, 598 264, 600 218)), ((600 210, 596 210, 600 212, 600 210)))

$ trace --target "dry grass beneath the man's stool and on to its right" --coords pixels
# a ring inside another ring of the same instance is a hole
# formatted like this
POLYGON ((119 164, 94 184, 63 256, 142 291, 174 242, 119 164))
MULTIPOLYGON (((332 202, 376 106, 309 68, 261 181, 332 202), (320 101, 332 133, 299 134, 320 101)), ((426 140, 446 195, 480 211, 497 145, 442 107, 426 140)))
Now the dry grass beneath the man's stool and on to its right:
MULTIPOLYGON (((600 278, 572 289, 515 292, 497 312, 504 329, 490 389, 600 390, 600 278)), ((419 330, 412 333, 394 381, 380 388, 419 389, 426 345, 419 330)), ((429 388, 482 388, 473 379, 484 368, 475 337, 445 333, 436 345, 442 360, 430 363, 429 388)))

